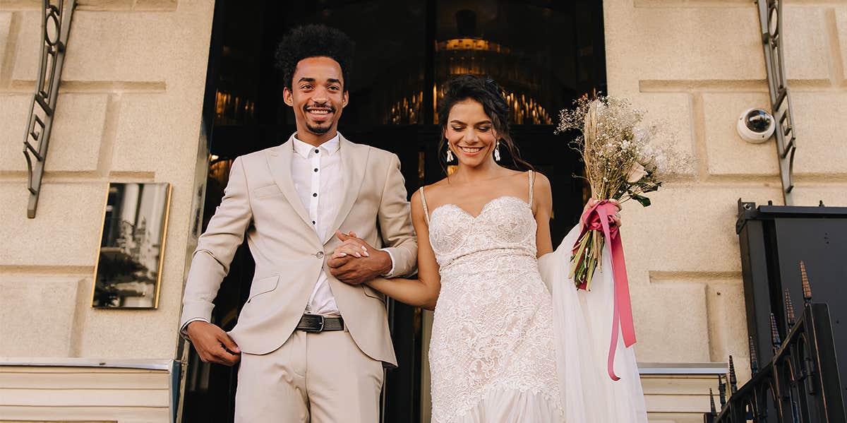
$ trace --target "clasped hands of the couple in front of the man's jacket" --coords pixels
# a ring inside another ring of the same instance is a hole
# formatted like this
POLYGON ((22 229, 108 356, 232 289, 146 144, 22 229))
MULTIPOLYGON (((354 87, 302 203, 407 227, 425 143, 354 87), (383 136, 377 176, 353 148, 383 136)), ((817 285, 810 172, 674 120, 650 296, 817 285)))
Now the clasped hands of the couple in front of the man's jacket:
POLYGON ((335 232, 341 241, 329 258, 329 273, 339 281, 359 285, 391 270, 391 256, 368 245, 356 234, 335 232))

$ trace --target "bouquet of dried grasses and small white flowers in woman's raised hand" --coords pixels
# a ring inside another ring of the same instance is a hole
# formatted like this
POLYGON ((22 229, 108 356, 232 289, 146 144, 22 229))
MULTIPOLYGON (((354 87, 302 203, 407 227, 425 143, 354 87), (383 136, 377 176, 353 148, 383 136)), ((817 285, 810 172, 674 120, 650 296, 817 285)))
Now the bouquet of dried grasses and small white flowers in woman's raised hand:
MULTIPOLYGON (((628 100, 584 96, 574 105, 574 109, 562 110, 556 133, 580 132, 572 147, 579 151, 585 164, 584 177, 591 186, 591 197, 603 200, 583 215, 584 229, 572 250, 574 284, 578 289, 588 290, 595 269, 602 263, 604 240, 613 242, 606 238, 615 238, 619 242, 617 227, 610 216, 616 209, 606 200, 615 199, 619 203, 635 200, 647 207, 650 198, 644 194, 659 189, 662 176, 678 169, 668 159, 672 155, 669 145, 656 145, 658 126, 640 125, 643 114, 628 100)), ((623 253, 619 255, 623 264, 623 253)))

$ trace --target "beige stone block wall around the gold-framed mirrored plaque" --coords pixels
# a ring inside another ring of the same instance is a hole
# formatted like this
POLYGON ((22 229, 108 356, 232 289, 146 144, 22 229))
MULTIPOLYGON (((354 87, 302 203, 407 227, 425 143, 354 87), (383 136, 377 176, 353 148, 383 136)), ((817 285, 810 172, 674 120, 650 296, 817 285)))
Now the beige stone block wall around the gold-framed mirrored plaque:
POLYGON ((21 153, 37 0, 0 1, 0 357, 172 359, 213 2, 80 0, 35 219, 21 153), (91 309, 108 182, 173 186, 159 307, 91 309))

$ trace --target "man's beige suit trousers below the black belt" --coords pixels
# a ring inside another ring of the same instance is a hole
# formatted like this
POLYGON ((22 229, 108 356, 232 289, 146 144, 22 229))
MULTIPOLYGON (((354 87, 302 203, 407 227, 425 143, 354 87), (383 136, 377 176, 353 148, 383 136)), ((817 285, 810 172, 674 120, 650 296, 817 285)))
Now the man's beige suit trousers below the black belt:
POLYGON ((294 331, 272 353, 241 353, 235 423, 376 423, 383 376, 347 331, 294 331))

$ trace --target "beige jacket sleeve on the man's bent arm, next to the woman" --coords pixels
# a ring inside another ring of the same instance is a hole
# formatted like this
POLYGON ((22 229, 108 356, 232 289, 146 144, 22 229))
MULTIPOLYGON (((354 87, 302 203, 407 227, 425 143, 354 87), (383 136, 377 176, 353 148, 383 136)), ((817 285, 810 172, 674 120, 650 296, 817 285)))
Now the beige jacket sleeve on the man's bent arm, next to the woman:
POLYGON ((386 251, 394 261, 391 276, 414 273, 418 263, 418 238, 412 226, 411 208, 406 197, 406 182, 400 172, 400 159, 391 154, 382 200, 379 203, 379 231, 386 251))

